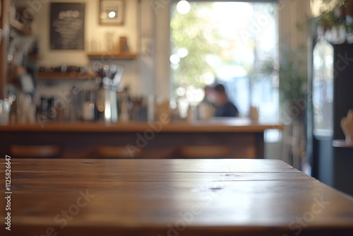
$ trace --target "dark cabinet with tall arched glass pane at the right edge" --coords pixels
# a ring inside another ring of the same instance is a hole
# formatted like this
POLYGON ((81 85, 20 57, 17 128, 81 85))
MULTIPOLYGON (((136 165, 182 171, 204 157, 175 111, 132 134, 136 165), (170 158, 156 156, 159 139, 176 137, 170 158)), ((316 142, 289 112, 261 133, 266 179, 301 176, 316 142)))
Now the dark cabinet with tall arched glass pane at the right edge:
POLYGON ((353 172, 353 162, 347 161, 343 167, 342 158, 353 159, 353 155, 334 148, 333 141, 345 140, 340 122, 353 109, 353 45, 330 45, 319 40, 313 47, 312 71, 308 106, 312 175, 347 192, 342 188, 342 183, 347 182, 342 179, 347 176, 342 171, 353 172))

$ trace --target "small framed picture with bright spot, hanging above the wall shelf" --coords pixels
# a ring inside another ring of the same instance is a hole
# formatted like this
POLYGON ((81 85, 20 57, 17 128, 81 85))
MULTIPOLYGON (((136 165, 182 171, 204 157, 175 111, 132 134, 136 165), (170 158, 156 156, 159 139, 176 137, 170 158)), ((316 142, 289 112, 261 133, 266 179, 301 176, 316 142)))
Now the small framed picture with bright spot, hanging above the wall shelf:
POLYGON ((100 0, 100 25, 124 25, 124 17, 124 0, 100 0))

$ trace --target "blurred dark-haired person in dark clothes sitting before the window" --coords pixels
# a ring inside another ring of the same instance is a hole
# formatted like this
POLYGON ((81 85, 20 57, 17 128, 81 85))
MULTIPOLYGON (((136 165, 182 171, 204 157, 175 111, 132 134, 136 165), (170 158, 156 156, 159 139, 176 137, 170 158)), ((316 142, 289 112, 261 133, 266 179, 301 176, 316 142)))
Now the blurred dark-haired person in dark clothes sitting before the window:
POLYGON ((217 84, 213 87, 213 103, 216 106, 215 117, 238 117, 237 107, 228 100, 225 86, 217 84))

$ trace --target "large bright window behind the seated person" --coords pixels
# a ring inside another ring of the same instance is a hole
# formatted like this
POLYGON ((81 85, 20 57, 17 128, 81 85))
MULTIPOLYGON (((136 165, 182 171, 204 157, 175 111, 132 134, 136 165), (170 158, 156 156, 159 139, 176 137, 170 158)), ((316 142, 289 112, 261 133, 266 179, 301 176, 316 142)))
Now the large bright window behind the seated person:
POLYGON ((241 116, 254 105, 261 120, 277 121, 278 78, 264 70, 278 61, 276 4, 182 2, 171 4, 172 98, 197 103, 218 82, 241 116))

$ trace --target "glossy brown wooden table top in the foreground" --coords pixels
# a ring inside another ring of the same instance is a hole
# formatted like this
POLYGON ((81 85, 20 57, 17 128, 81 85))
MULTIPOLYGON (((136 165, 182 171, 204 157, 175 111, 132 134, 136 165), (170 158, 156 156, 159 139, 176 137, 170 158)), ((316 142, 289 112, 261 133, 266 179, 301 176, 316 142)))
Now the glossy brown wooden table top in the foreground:
POLYGON ((353 199, 280 160, 13 158, 11 192, 7 235, 353 235, 353 199))

